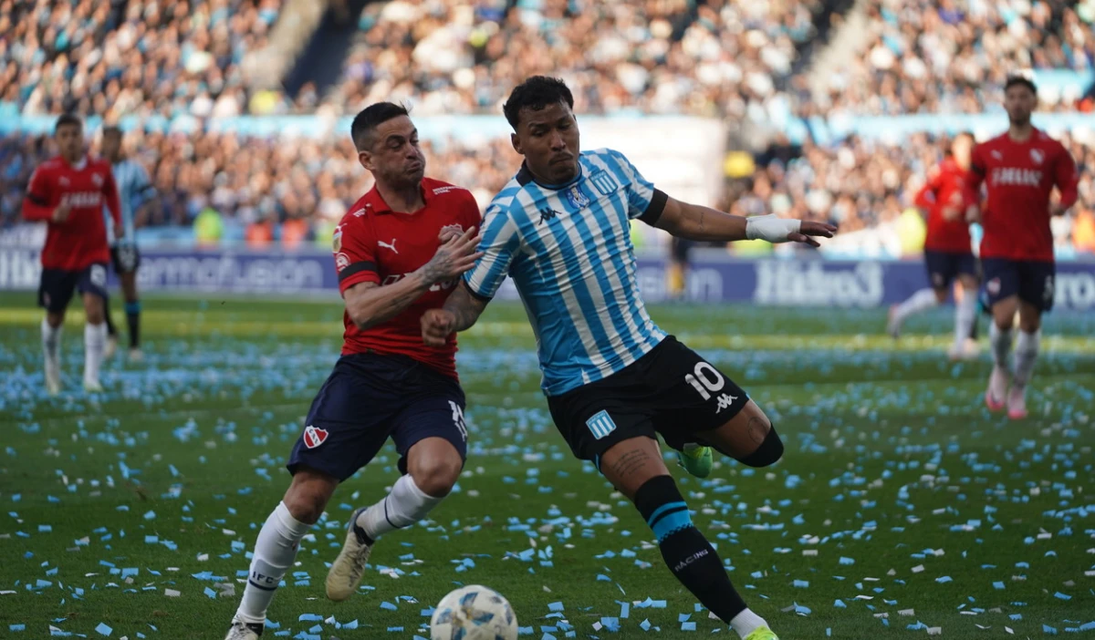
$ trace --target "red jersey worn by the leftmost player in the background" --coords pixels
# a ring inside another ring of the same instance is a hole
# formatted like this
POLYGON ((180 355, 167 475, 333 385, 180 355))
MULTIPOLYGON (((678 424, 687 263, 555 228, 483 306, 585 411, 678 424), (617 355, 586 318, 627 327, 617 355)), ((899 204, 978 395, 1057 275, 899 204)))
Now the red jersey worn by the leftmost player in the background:
POLYGON ((38 165, 23 200, 23 218, 49 223, 42 248, 43 267, 79 271, 110 261, 103 205, 111 210, 114 228, 120 229, 118 189, 106 160, 85 156, 79 164, 69 164, 57 156, 38 165), (69 217, 54 222, 54 209, 62 202, 71 207, 69 217))

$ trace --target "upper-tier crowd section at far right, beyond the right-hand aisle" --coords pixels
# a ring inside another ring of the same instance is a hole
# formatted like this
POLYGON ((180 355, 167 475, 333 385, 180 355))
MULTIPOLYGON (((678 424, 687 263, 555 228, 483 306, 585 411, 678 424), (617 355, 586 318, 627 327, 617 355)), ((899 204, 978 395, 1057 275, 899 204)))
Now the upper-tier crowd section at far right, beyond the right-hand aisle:
MULTIPOLYGON (((981 113, 1021 69, 1095 69, 1091 12, 1067 0, 869 0, 867 12, 856 55, 828 75, 828 100, 799 105, 804 115, 981 113)), ((1044 86, 1042 107, 1090 110, 1077 86, 1044 86)))

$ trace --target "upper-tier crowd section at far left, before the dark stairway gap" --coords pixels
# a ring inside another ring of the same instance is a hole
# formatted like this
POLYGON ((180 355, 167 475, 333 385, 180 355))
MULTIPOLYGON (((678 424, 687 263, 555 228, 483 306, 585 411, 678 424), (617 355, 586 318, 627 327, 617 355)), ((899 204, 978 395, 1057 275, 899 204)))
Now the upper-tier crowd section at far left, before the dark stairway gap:
POLYGON ((23 114, 230 116, 281 0, 0 0, 0 100, 23 114))

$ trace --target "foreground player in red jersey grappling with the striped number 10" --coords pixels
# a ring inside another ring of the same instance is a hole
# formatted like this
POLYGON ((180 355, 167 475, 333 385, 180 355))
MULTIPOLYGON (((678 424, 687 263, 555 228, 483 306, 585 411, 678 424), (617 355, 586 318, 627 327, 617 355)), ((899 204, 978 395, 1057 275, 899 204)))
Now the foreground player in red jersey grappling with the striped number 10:
POLYGON ((457 380, 456 334, 422 341, 422 314, 440 306, 475 253, 479 206, 471 193, 425 178, 418 133, 405 108, 369 106, 354 118, 354 144, 376 186, 334 234, 346 301, 343 356, 315 396, 289 456, 292 482, 255 543, 247 586, 226 640, 254 640, 297 546, 335 487, 367 465, 389 437, 400 453, 391 492, 349 519, 327 574, 343 601, 361 581, 373 540, 408 526, 449 493, 463 468, 468 430, 457 380))

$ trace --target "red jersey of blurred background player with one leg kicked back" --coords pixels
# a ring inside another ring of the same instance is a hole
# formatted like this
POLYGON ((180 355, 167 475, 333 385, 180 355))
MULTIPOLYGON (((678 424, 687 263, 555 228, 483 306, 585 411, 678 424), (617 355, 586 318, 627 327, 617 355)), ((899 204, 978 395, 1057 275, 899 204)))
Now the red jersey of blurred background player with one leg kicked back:
POLYGON ((966 209, 972 202, 967 195, 966 170, 953 158, 944 160, 917 194, 917 206, 927 210, 927 237, 924 248, 946 253, 973 253, 970 246, 966 209), (946 210, 955 213, 947 220, 946 210))

